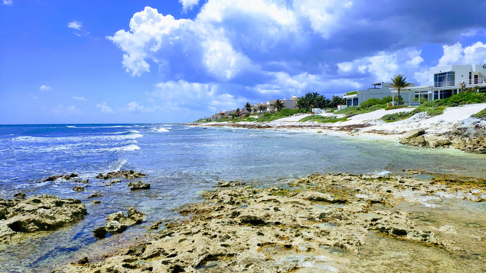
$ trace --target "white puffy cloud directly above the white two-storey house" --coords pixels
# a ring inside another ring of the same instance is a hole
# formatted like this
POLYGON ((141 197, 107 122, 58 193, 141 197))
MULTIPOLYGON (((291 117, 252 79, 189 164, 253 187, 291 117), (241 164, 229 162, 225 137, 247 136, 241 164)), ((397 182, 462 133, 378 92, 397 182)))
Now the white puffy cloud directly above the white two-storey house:
POLYGON ((439 59, 439 66, 445 65, 479 65, 486 63, 486 44, 476 42, 463 48, 460 43, 442 47, 444 54, 439 59))

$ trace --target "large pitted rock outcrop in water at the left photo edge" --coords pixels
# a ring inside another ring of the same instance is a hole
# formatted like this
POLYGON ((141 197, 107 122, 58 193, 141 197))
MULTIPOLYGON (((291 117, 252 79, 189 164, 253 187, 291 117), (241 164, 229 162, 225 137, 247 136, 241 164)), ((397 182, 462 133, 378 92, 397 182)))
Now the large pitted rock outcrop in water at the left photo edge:
POLYGON ((87 214, 77 199, 59 199, 52 195, 0 199, 0 241, 21 233, 53 230, 87 214))

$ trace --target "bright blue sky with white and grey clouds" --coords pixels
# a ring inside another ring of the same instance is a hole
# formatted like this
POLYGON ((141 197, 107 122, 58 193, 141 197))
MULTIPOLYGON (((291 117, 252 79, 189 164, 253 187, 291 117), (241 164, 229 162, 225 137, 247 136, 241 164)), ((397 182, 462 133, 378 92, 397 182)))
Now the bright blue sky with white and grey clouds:
POLYGON ((189 122, 486 63, 484 0, 0 0, 0 124, 189 122), (463 7, 459 8, 458 7, 463 7))

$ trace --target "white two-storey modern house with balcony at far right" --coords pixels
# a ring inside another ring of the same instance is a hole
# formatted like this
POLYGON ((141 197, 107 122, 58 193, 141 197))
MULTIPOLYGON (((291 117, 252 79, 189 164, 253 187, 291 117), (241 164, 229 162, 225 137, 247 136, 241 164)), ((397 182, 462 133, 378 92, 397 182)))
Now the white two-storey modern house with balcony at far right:
MULTIPOLYGON (((476 92, 486 92, 486 64, 432 67, 430 73, 434 75, 433 83, 409 86, 400 90, 404 104, 418 105, 418 98, 425 98, 427 101, 449 98, 460 92, 463 82, 467 89, 477 87, 476 92)), ((398 95, 396 89, 392 89, 391 92, 394 94, 393 97, 398 95)), ((395 104, 395 100, 393 103, 395 104)))

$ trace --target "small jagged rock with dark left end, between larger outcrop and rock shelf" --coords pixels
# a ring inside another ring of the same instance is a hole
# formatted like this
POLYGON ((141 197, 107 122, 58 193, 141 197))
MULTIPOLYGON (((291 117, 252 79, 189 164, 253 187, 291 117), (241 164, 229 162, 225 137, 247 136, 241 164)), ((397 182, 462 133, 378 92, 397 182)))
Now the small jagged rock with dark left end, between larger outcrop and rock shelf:
POLYGON ((97 238, 105 238, 107 233, 122 233, 128 226, 140 224, 144 219, 144 213, 137 211, 133 206, 123 214, 122 211, 106 216, 106 225, 95 228, 93 234, 97 238))

